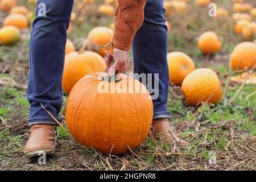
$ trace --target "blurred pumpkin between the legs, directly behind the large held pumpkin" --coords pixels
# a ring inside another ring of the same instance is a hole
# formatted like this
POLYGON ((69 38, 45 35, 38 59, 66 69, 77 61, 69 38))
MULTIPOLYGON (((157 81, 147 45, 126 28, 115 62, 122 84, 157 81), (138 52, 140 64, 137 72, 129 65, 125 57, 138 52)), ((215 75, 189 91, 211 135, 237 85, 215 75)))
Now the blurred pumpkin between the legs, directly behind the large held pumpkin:
POLYGON ((65 56, 63 73, 63 90, 70 93, 73 86, 89 73, 103 72, 106 67, 104 59, 96 52, 71 52, 65 56))

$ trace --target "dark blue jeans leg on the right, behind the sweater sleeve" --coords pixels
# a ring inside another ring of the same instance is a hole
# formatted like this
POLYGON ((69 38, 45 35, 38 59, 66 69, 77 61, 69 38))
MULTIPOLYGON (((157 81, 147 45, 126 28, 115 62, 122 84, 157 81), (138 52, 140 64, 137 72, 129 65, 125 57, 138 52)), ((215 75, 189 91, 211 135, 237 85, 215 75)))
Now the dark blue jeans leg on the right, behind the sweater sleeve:
MULTIPOLYGON (((143 26, 133 42, 134 73, 159 73, 159 97, 153 100, 153 119, 170 118, 167 107, 169 73, 164 13, 163 0, 147 0, 143 26)), ((151 85, 154 89, 154 83, 151 85)))

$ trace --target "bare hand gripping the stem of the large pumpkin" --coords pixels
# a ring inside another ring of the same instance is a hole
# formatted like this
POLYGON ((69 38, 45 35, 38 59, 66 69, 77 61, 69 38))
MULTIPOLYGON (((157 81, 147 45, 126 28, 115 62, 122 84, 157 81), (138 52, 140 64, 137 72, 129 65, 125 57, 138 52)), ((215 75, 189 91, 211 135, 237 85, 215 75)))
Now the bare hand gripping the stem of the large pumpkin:
POLYGON ((129 66, 129 51, 114 49, 113 55, 110 52, 106 51, 105 62, 107 65, 105 71, 108 73, 109 76, 114 75, 116 71, 118 71, 118 73, 122 73, 126 71, 129 66), (110 67, 110 63, 113 59, 115 60, 115 62, 110 67))

